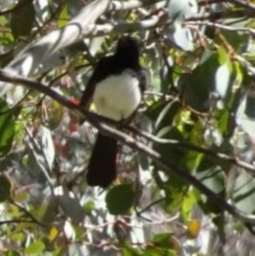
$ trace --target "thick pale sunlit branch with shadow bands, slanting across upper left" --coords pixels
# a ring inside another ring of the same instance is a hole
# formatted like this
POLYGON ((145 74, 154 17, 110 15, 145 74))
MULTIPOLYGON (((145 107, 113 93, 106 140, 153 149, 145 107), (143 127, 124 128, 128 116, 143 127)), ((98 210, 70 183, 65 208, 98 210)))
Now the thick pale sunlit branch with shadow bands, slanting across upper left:
MULTIPOLYGON (((36 43, 28 45, 13 61, 6 70, 13 75, 24 75, 25 77, 38 68, 39 64, 52 56, 55 52, 76 41, 84 38, 84 34, 91 32, 89 25, 94 24, 98 17, 104 13, 110 0, 95 0, 87 4, 78 15, 61 29, 52 31, 36 43)), ((11 84, 0 84, 0 96, 10 91, 11 84)))

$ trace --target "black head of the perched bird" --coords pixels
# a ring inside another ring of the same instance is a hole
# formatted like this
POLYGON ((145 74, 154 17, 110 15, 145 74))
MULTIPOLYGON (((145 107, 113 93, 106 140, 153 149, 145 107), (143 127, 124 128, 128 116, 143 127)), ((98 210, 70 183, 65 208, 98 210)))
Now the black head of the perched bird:
POLYGON ((128 68, 139 66, 139 47, 135 38, 122 36, 117 43, 115 57, 128 68))

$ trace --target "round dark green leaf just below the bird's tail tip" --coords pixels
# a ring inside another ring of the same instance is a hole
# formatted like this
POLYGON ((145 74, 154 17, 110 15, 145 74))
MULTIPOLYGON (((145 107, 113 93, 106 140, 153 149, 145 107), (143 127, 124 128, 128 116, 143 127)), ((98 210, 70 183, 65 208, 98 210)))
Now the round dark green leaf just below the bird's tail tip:
POLYGON ((124 215, 133 205, 135 193, 131 184, 121 184, 106 195, 106 205, 112 215, 124 215))

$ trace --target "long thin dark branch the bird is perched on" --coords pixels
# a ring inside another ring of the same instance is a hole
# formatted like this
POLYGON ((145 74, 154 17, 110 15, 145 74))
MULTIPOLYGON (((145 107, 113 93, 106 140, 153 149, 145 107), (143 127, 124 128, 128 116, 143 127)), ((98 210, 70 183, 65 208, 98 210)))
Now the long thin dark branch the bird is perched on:
POLYGON ((166 175, 170 177, 178 177, 179 179, 182 179, 183 181, 192 184, 194 187, 198 188, 198 190, 200 190, 201 193, 205 194, 208 198, 213 200, 215 202, 215 205, 217 205, 224 211, 228 211, 228 213, 233 215, 238 220, 244 223, 255 223, 255 215, 246 215, 244 212, 239 211, 236 207, 232 206, 230 203, 222 199, 221 196, 212 192, 212 190, 210 190, 209 188, 207 188, 207 186, 198 181, 198 179, 191 176, 187 172, 184 172, 183 170, 179 169, 172 163, 167 162, 167 160, 165 160, 159 153, 157 153, 153 149, 150 149, 150 147, 146 146, 145 144, 142 144, 141 142, 136 141, 135 139, 133 139, 133 137, 126 135, 126 133, 120 132, 119 130, 116 130, 112 126, 109 126, 97 114, 94 114, 92 112, 82 109, 81 107, 78 107, 75 103, 70 102, 67 98, 53 91, 49 87, 46 87, 43 84, 35 82, 31 79, 24 79, 20 76, 14 77, 11 74, 4 72, 3 70, 0 70, 0 80, 4 82, 11 82, 13 84, 19 83, 28 87, 29 89, 34 89, 36 91, 40 91, 40 93, 47 94, 47 96, 50 96, 53 100, 61 103, 64 107, 74 111, 80 116, 85 116, 87 121, 89 121, 89 123, 98 128, 100 132, 105 133, 110 137, 119 140, 123 144, 128 145, 129 147, 135 149, 136 151, 140 151, 140 153, 143 153, 152 160, 154 160, 166 173, 166 175))

